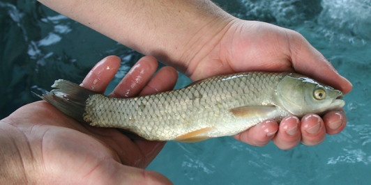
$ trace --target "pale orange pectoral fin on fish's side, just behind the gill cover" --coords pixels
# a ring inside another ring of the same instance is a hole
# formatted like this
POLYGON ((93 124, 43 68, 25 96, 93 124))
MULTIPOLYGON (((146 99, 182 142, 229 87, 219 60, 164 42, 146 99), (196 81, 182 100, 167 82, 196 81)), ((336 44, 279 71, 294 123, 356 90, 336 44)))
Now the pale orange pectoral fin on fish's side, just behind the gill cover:
POLYGON ((238 117, 256 117, 261 115, 271 115, 278 111, 277 106, 240 106, 229 110, 233 115, 238 117))

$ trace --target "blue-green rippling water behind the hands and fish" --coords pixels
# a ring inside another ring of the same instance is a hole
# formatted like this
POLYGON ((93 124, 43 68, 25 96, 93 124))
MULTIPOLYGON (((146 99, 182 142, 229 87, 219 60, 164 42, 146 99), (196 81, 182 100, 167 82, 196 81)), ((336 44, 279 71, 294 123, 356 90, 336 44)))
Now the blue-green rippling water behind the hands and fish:
MULTIPOLYGON (((315 147, 282 151, 272 143, 252 147, 233 138, 168 142, 148 169, 175 184, 370 184, 371 2, 216 1, 229 13, 294 29, 349 79, 348 124, 315 147), (165 165, 164 165, 165 164, 165 165)), ((0 118, 33 102, 30 90, 54 79, 82 81, 101 58, 123 59, 116 81, 141 55, 34 1, 0 1, 0 118)), ((178 87, 188 83, 181 77, 178 87)))

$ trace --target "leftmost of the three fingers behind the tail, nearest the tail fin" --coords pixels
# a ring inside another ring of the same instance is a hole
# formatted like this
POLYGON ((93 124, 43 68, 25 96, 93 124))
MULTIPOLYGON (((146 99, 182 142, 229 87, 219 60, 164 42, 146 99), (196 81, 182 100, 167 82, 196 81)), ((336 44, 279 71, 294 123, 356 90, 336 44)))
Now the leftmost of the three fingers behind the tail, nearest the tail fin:
POLYGON ((107 56, 99 61, 93 69, 86 75, 80 86, 93 90, 97 93, 104 93, 109 81, 119 70, 120 58, 117 56, 107 56))

